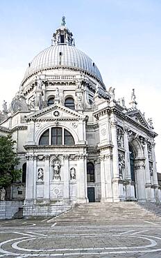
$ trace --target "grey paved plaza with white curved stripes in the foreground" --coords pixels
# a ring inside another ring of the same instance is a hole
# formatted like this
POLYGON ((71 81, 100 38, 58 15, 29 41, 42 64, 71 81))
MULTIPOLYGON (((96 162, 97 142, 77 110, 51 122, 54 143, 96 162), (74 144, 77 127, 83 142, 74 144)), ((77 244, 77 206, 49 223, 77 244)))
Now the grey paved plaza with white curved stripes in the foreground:
POLYGON ((161 257, 161 220, 0 221, 0 257, 161 257))

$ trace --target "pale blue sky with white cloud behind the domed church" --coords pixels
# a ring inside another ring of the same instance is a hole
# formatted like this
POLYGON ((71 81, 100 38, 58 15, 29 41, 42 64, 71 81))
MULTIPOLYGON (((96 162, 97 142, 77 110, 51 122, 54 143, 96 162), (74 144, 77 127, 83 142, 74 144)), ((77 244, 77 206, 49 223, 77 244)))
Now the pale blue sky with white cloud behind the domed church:
MULTIPOLYGON (((135 88, 138 108, 153 117, 160 134, 160 0, 1 0, 0 13, 0 103, 10 102, 28 63, 51 44, 65 15, 76 47, 94 60, 106 87, 115 86, 127 104, 135 88)), ((160 145, 159 136, 158 163, 160 145)))

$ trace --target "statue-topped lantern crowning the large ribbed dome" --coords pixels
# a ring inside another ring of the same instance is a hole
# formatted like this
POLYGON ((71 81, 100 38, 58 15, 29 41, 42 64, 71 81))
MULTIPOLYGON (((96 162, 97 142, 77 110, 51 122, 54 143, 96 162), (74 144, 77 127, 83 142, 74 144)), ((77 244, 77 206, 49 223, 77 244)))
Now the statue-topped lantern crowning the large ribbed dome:
POLYGON ((53 38, 51 39, 51 45, 69 45, 74 47, 74 38, 73 34, 65 26, 65 16, 62 16, 62 22, 60 28, 56 30, 56 33, 53 33, 53 38))

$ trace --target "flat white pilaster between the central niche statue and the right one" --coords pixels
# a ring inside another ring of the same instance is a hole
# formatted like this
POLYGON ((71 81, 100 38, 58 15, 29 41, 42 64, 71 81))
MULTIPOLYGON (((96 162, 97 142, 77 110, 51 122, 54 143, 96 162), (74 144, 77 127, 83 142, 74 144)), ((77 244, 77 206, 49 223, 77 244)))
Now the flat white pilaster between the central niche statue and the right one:
POLYGON ((64 199, 69 200, 69 155, 64 155, 64 199))

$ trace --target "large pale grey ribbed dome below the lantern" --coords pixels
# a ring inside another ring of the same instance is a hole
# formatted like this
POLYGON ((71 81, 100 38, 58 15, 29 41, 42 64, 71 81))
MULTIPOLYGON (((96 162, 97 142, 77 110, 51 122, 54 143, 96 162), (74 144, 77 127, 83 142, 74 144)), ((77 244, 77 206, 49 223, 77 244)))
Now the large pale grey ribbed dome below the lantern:
POLYGON ((51 47, 37 54, 33 61, 29 63, 24 80, 40 70, 56 67, 79 68, 103 82, 101 73, 94 61, 76 47, 65 44, 51 45, 51 47))

